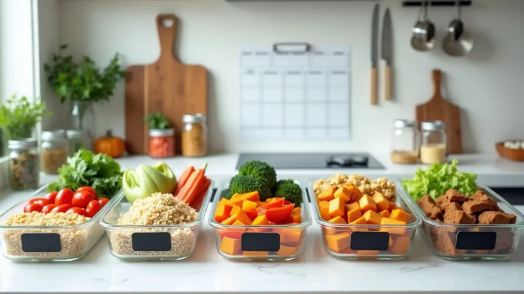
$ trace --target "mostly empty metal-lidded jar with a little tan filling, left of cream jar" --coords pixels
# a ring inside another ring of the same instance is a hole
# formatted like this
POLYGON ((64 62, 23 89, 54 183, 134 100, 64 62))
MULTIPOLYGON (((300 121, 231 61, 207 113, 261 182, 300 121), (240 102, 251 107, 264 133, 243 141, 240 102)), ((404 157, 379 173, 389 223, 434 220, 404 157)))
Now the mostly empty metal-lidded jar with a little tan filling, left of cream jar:
POLYGON ((420 132, 417 121, 397 119, 393 127, 391 161, 395 163, 417 163, 420 148, 420 132))

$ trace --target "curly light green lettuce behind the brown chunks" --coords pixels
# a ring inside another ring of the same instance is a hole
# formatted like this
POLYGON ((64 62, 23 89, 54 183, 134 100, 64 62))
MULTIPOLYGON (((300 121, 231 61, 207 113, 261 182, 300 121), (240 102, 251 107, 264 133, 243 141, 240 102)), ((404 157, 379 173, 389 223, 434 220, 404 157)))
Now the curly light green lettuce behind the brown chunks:
POLYGON ((451 164, 435 163, 425 171, 417 169, 412 179, 404 179, 401 184, 415 201, 428 194, 436 199, 447 189, 455 189, 465 195, 472 195, 478 190, 477 175, 457 171, 456 160, 451 164))

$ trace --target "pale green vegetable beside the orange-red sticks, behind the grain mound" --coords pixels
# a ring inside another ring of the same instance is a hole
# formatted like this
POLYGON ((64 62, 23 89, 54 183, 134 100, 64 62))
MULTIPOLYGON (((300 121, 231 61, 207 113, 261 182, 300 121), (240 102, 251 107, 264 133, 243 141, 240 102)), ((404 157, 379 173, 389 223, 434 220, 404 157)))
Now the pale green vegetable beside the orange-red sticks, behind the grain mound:
POLYGON ((165 163, 155 166, 140 164, 137 169, 128 169, 122 178, 124 194, 129 203, 154 193, 173 193, 177 178, 165 163))

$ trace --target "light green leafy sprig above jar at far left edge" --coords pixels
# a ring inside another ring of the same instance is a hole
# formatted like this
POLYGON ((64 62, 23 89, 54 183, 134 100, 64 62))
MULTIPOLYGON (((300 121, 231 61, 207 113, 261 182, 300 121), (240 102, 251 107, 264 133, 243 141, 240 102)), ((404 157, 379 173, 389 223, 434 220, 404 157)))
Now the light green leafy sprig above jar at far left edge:
POLYGON ((32 132, 42 117, 51 116, 45 103, 30 103, 27 97, 16 94, 0 106, 0 128, 7 140, 32 137, 32 132))

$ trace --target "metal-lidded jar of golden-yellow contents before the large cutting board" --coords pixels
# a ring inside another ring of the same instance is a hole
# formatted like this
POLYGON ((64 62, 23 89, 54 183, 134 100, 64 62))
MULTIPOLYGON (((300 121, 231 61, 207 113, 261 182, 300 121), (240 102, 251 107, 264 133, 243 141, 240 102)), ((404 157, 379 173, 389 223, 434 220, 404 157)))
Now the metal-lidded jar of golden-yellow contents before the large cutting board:
POLYGON ((208 154, 208 126, 203 114, 182 117, 182 155, 199 157, 208 154))

